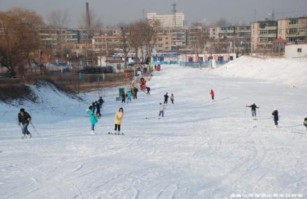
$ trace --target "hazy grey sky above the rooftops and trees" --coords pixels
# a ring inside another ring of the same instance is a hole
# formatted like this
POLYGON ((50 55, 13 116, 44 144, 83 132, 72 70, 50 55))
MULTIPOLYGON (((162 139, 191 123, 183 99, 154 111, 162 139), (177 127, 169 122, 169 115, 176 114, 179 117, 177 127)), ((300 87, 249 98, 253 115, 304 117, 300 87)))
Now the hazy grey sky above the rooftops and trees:
POLYGON ((95 10, 105 25, 133 22, 142 18, 143 9, 145 15, 171 13, 172 3, 177 3, 177 11, 184 13, 188 24, 201 21, 210 24, 222 17, 233 23, 251 22, 255 9, 257 20, 264 20, 271 10, 276 18, 307 15, 307 0, 0 0, 0 10, 28 8, 45 20, 52 10, 66 10, 69 27, 77 27, 85 12, 85 2, 89 2, 90 10, 95 10))

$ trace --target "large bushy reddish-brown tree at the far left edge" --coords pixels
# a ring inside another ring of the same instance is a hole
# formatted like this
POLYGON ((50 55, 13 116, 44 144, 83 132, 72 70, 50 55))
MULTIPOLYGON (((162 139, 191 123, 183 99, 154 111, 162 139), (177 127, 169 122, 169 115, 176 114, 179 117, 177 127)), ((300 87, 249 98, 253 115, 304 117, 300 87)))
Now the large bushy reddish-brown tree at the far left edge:
POLYGON ((13 76, 24 71, 24 64, 34 61, 42 25, 42 17, 30 10, 13 8, 0 12, 0 64, 13 76))

